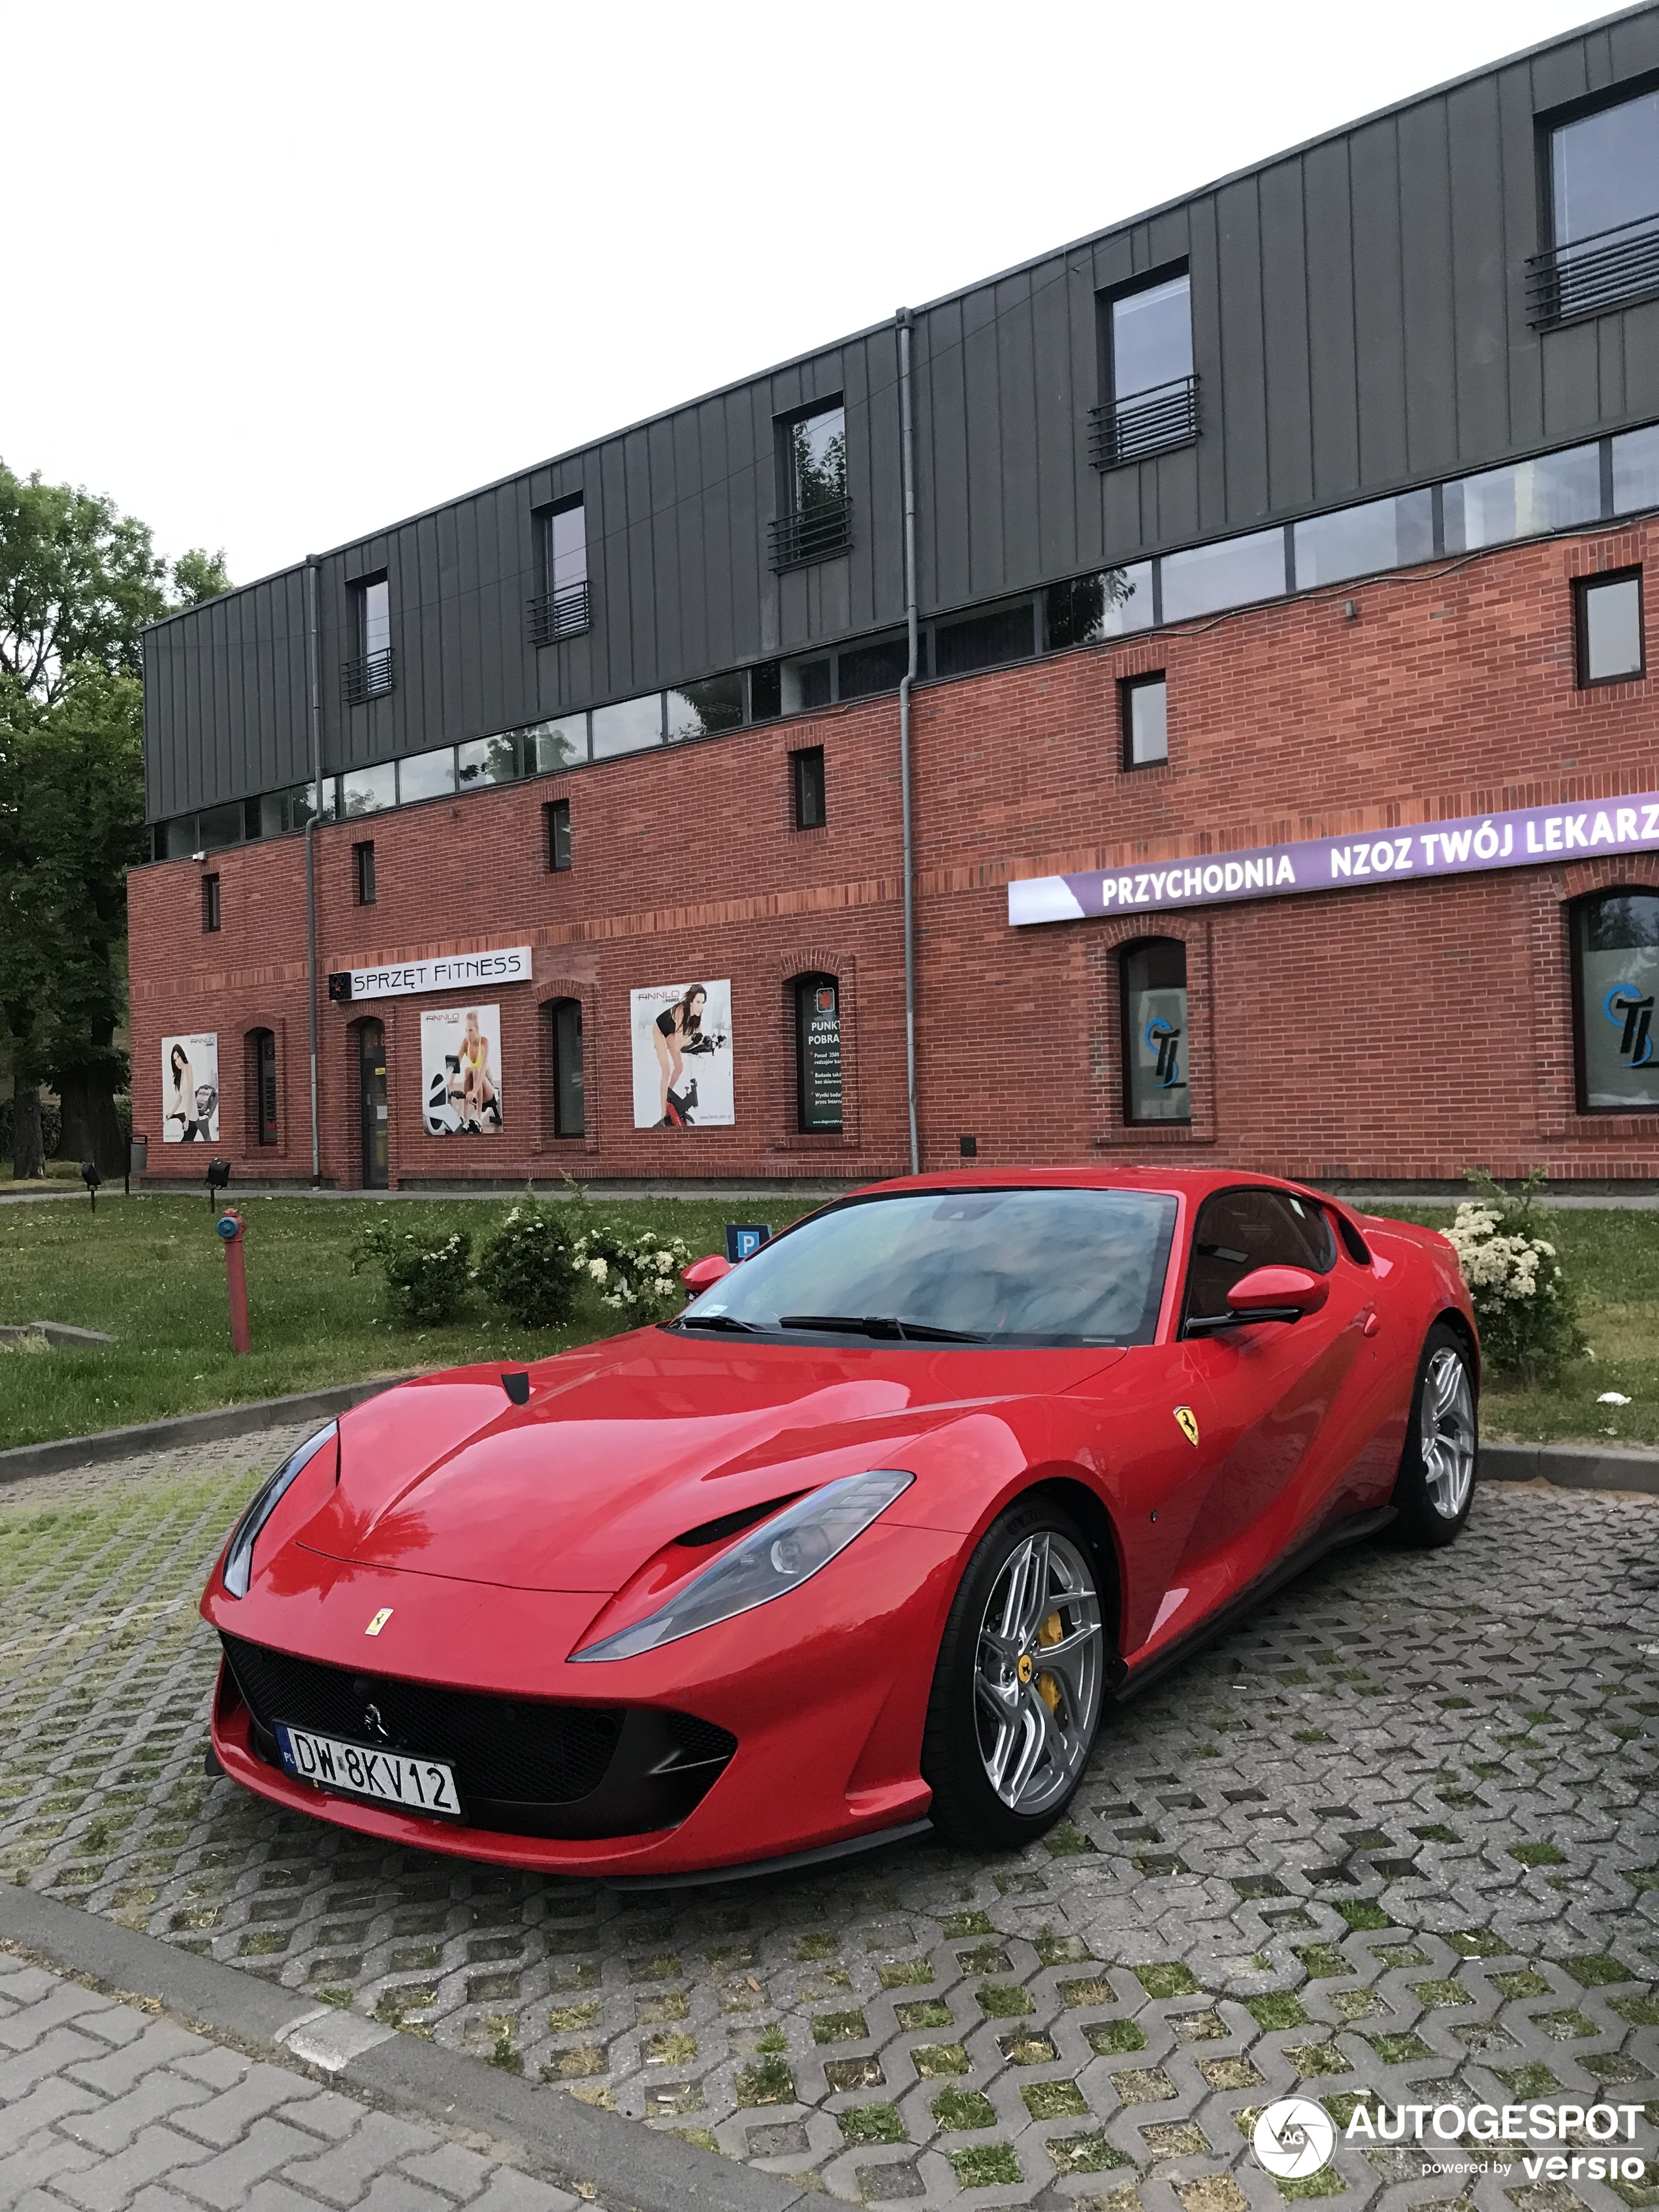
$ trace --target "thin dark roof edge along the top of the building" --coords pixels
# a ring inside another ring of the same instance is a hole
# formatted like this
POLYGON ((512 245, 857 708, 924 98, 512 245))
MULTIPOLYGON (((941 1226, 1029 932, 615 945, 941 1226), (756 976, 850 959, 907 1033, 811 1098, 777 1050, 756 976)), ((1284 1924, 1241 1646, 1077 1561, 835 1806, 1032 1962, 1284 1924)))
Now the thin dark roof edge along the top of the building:
MULTIPOLYGON (((1371 108, 1365 115, 1356 115, 1352 122, 1336 124, 1332 131, 1321 131, 1314 137, 1298 139, 1294 146, 1283 146, 1279 153, 1265 155, 1261 161, 1248 161, 1243 168, 1230 168, 1221 177, 1212 177, 1208 184, 1194 184, 1186 192, 1177 192, 1170 199, 1157 201, 1152 208, 1139 208, 1135 215, 1126 215, 1113 223, 1104 223, 1099 230, 1086 230, 1082 237, 1071 239, 1064 246, 1048 246, 1040 254, 1031 254, 1024 261, 1013 261, 1004 270, 995 270, 991 276, 975 276, 973 283, 956 285, 951 292, 940 292, 936 299, 922 301, 911 310, 896 310, 894 316, 885 316, 880 323, 865 323, 860 330, 843 332, 836 338, 825 338, 821 345, 807 347, 803 354, 790 354, 785 361, 772 363, 765 369, 750 369, 748 376, 734 376, 730 383, 712 385, 708 392, 699 392, 688 400, 675 400, 672 407, 661 407, 657 414, 637 416, 633 422, 624 422, 617 429, 606 429, 597 438, 586 438, 582 445, 568 445, 560 453, 549 453, 544 460, 524 462, 520 469, 509 469, 504 476, 493 476, 482 484, 473 484, 467 491, 453 491, 447 500, 436 500, 431 507, 418 507, 409 515, 400 515, 396 522, 378 522, 369 531, 358 531, 352 538, 343 538, 338 544, 327 546, 323 553, 307 553, 305 560, 290 562, 285 568, 270 568, 265 575, 250 577, 246 584, 234 584, 230 591, 215 593, 212 599, 199 599, 195 606, 175 608, 170 615, 159 615, 155 622, 144 624, 144 633, 161 630, 170 622, 184 622, 190 615, 199 615, 204 606, 217 606, 219 599, 237 599, 243 591, 259 591, 265 584, 274 584, 285 575, 299 575, 314 562, 334 560, 341 553, 349 553, 354 546, 365 544, 372 538, 389 538, 394 531, 409 529, 411 522, 425 522, 427 515, 440 515, 449 507, 462 507, 467 500, 480 500, 489 491, 500 491, 507 484, 518 484, 526 476, 535 476, 538 469, 557 469, 566 460, 577 460, 582 453, 593 453, 602 445, 611 445, 617 438, 633 438, 635 431, 650 429, 655 422, 668 422, 677 414, 690 414, 695 407, 708 407, 710 400, 728 398, 732 392, 745 392, 750 385, 765 383, 770 376, 783 376, 787 369, 805 367, 812 361, 821 361, 825 354, 836 352, 843 345, 858 345, 865 338, 874 338, 880 330, 894 330, 898 314, 936 314, 940 307, 949 307, 958 299, 969 299, 973 292, 982 292, 989 285, 1006 283, 1011 276, 1024 276, 1029 270, 1037 270, 1048 261, 1064 261, 1066 254, 1082 252, 1084 248, 1095 248, 1104 239, 1119 237, 1124 230, 1133 230, 1137 223, 1152 223, 1159 215, 1170 215, 1175 208, 1186 208, 1194 199, 1206 199, 1210 192, 1223 192, 1230 184, 1241 184, 1245 177, 1259 177, 1281 161, 1298 161, 1303 155, 1312 153, 1316 146, 1329 146, 1334 139, 1352 137, 1356 131, 1365 131, 1371 124, 1387 122, 1391 115, 1405 115, 1409 108, 1422 106, 1425 100, 1442 100, 1447 93, 1455 93, 1464 84, 1478 84, 1482 77, 1495 77, 1504 69, 1517 69, 1522 62, 1535 60, 1540 53, 1553 53, 1557 46, 1568 44, 1575 38, 1590 38, 1595 31, 1608 31, 1613 24, 1632 22, 1637 15, 1659 13, 1659 0, 1632 0, 1630 7, 1615 9, 1610 15, 1595 15, 1590 22, 1575 24, 1571 31, 1557 31, 1555 38, 1542 38, 1533 46, 1520 46, 1515 53, 1500 55, 1495 62, 1482 62, 1478 69, 1464 69, 1458 77, 1444 77, 1440 84, 1429 84, 1420 93, 1409 93, 1405 100, 1396 100, 1385 108, 1371 108)), ((144 635, 139 633, 139 635, 144 635)))

